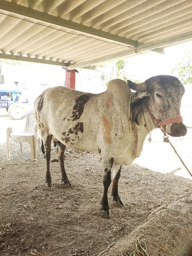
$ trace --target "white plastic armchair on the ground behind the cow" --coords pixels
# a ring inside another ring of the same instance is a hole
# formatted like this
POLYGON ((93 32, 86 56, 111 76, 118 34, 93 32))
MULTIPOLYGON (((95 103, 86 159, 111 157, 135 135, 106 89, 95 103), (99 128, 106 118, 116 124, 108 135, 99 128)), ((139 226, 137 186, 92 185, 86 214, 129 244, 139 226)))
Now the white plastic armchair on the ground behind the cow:
POLYGON ((34 111, 28 111, 22 114, 19 119, 26 118, 26 125, 23 132, 12 132, 12 127, 7 129, 7 160, 10 159, 10 144, 11 141, 20 143, 21 152, 24 152, 24 142, 28 142, 31 147, 32 163, 37 162, 37 148, 38 155, 40 155, 40 138, 37 134, 37 125, 35 122, 34 111))

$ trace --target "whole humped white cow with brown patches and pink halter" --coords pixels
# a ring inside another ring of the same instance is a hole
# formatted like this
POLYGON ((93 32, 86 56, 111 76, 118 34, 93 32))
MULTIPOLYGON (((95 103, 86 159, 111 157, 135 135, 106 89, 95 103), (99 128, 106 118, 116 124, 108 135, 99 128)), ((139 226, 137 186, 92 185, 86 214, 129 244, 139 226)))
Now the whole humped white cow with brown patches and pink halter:
POLYGON ((184 91, 178 78, 167 75, 153 76, 140 84, 114 79, 99 94, 61 86, 46 89, 34 102, 47 163, 45 186, 52 187, 52 139, 59 144, 58 160, 66 188, 71 188, 64 166, 66 146, 100 154, 104 186, 101 215, 110 218, 107 195, 112 167, 113 204, 123 207, 118 195, 121 167, 140 156, 147 134, 161 128, 174 137, 186 135, 180 116, 184 91))

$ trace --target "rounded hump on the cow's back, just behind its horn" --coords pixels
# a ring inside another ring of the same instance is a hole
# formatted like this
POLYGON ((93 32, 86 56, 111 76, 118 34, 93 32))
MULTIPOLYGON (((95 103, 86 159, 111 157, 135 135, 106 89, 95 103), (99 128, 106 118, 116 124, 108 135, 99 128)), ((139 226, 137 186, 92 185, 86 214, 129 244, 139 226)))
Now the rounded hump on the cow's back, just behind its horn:
POLYGON ((113 79, 108 82, 107 91, 115 94, 129 93, 131 92, 129 86, 124 80, 113 79))

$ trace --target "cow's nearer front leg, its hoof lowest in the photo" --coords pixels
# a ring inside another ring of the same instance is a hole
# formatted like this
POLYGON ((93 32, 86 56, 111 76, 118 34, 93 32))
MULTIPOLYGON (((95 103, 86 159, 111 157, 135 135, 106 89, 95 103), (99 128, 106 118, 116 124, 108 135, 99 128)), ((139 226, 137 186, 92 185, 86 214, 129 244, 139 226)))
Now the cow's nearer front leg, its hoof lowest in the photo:
POLYGON ((108 204, 108 198, 107 198, 107 193, 108 193, 108 187, 111 184, 111 169, 113 166, 113 158, 104 158, 102 160, 102 167, 103 167, 103 186, 104 186, 104 191, 103 191, 103 197, 101 200, 101 214, 104 218, 110 218, 111 217, 111 210, 109 208, 108 204))

